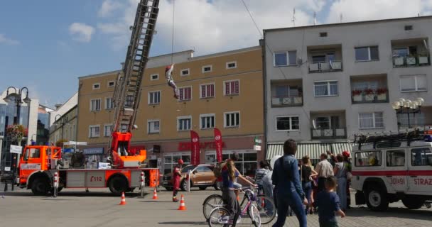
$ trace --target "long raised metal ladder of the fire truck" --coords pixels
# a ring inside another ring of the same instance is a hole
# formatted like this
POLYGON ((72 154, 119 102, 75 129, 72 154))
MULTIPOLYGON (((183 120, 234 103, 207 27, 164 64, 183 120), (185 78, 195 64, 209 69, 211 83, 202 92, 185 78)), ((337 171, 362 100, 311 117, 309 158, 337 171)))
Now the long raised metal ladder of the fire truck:
POLYGON ((134 128, 141 97, 142 77, 158 17, 158 4, 159 0, 141 0, 136 9, 126 60, 114 89, 115 111, 112 132, 131 132, 134 128))

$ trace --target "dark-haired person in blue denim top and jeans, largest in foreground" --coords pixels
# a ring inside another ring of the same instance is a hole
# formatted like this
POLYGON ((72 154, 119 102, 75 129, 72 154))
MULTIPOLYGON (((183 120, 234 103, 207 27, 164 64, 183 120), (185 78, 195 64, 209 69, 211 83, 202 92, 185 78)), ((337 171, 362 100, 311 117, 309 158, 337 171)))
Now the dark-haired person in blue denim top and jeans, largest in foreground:
POLYGON ((278 219, 273 227, 282 227, 286 221, 288 206, 291 206, 297 216, 300 227, 308 226, 303 204, 308 204, 303 189, 301 189, 298 162, 294 155, 297 144, 294 140, 284 143, 284 156, 274 163, 271 181, 276 186, 276 201, 278 204, 278 219))

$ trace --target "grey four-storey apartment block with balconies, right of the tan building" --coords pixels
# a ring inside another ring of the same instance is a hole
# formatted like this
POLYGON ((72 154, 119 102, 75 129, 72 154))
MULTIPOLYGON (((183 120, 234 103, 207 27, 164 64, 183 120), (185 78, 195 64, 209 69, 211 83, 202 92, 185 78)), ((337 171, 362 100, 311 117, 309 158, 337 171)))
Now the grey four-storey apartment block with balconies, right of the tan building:
POLYGON ((318 159, 350 150, 354 134, 431 125, 431 23, 421 16, 265 30, 266 159, 286 138, 298 140, 299 158, 318 159), (418 97, 420 111, 392 108, 418 97))

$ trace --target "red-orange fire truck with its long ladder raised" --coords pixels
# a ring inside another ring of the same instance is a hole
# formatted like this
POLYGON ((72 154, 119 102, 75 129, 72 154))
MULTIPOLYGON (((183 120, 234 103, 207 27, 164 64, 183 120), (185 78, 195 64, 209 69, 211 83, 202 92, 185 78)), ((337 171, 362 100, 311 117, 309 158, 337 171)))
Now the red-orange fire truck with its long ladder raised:
MULTIPOLYGON (((63 188, 104 188, 113 194, 131 192, 141 184, 144 172, 146 186, 158 185, 159 171, 156 168, 141 168, 146 160, 146 150, 130 150, 131 131, 141 96, 141 82, 148 60, 153 33, 158 17, 159 0, 141 0, 136 9, 131 40, 127 49, 123 69, 117 77, 114 89, 114 122, 110 138, 109 169, 73 169, 66 167, 62 150, 54 146, 28 145, 19 160, 21 188, 31 189, 33 194, 45 195, 53 192, 54 175, 58 173, 58 192, 63 188)), ((82 153, 75 153, 81 155, 82 153)))

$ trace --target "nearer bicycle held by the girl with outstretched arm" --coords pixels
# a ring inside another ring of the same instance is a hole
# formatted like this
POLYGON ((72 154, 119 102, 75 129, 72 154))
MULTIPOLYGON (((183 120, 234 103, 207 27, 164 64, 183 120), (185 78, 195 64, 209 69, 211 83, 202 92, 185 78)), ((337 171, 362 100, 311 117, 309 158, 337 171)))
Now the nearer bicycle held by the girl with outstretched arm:
MULTIPOLYGON (((254 225, 255 227, 261 226, 261 216, 259 215, 257 206, 255 206, 252 203, 257 199, 257 196, 255 196, 254 192, 250 189, 250 187, 243 187, 239 190, 240 192, 243 192, 244 196, 247 198, 247 204, 242 209, 238 220, 241 220, 241 218, 247 214, 249 218, 251 218, 252 220, 252 225, 254 225)), ((226 209, 225 205, 223 204, 216 205, 215 209, 212 209, 212 211, 210 211, 209 218, 207 219, 207 222, 210 227, 212 226, 228 227, 229 225, 232 225, 233 221, 234 220, 232 214, 230 214, 228 209, 226 209)))

